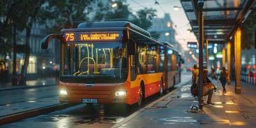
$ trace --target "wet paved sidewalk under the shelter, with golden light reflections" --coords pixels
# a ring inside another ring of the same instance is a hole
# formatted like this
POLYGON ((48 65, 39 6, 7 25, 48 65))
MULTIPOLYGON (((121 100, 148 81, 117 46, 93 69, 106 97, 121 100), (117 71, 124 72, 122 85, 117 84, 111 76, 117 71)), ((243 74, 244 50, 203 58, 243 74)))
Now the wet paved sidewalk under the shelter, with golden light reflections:
POLYGON ((113 127, 256 127, 256 88, 242 86, 242 95, 234 93, 234 86, 227 85, 227 93, 222 94, 219 81, 214 93, 214 106, 204 106, 202 113, 191 113, 191 106, 197 105, 190 94, 190 84, 168 95, 156 104, 146 106, 128 116, 113 127), (254 93, 253 93, 254 92, 254 93))

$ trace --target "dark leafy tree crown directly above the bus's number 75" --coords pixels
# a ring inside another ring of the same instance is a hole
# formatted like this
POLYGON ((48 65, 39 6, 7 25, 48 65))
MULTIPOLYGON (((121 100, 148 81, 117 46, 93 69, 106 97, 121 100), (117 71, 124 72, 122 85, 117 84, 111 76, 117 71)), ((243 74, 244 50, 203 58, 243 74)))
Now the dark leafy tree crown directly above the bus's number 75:
POLYGON ((76 28, 79 22, 88 20, 84 10, 93 0, 51 0, 42 10, 41 18, 51 22, 52 32, 60 33, 63 28, 76 28))

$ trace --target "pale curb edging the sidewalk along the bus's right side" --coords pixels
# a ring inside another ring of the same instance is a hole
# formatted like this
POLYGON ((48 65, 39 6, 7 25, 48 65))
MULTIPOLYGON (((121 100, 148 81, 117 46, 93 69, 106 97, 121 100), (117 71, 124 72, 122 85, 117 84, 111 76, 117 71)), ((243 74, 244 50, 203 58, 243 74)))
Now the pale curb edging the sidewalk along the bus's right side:
MULTIPOLYGON (((184 82, 183 84, 188 84, 190 82, 190 80, 188 82, 184 82)), ((121 122, 113 125, 111 128, 116 128, 116 127, 120 127, 124 124, 126 124, 127 122, 129 122, 130 120, 132 120, 132 118, 134 118, 135 116, 139 115, 140 113, 142 113, 143 111, 145 111, 148 108, 152 108, 152 106, 154 106, 155 104, 157 104, 157 102, 160 102, 163 99, 166 99, 167 97, 169 97, 170 95, 172 95, 173 93, 177 92, 178 90, 180 90, 180 88, 182 88, 182 86, 180 86, 179 88, 175 88, 175 90, 173 90, 170 93, 167 93, 166 95, 164 95, 163 97, 160 97, 159 99, 155 100, 154 102, 148 104, 147 106, 145 106, 144 108, 139 109, 138 111, 135 111, 134 113, 132 113, 131 115, 127 116, 126 118, 124 118, 124 120, 122 120, 121 122)))

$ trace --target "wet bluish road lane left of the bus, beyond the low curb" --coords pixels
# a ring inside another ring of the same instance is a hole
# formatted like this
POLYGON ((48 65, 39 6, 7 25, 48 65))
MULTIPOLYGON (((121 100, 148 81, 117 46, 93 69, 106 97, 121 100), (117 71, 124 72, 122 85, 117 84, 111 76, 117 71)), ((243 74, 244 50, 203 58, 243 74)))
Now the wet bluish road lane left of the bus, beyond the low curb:
POLYGON ((44 86, 39 88, 26 88, 17 90, 6 90, 0 92, 0 106, 18 102, 36 101, 47 97, 58 95, 58 86, 44 86))

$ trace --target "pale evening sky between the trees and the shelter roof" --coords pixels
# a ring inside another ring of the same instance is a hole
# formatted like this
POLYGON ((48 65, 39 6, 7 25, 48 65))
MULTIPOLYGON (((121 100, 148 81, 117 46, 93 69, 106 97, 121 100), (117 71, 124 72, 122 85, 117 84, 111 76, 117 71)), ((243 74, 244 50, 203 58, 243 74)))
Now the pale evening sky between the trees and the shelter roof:
POLYGON ((140 10, 144 7, 154 8, 157 10, 157 17, 163 18, 164 12, 170 13, 170 17, 173 23, 176 25, 174 28, 177 32, 175 36, 177 42, 179 42, 185 51, 188 51, 186 47, 187 42, 196 42, 196 37, 193 33, 188 33, 187 30, 191 29, 189 21, 184 13, 183 8, 181 7, 179 0, 157 0, 160 4, 155 4, 155 0, 127 0, 127 3, 130 5, 132 12, 135 14, 137 10, 140 10), (135 2, 134 2, 135 1, 135 2), (173 10, 173 6, 179 6, 180 10, 173 10))

